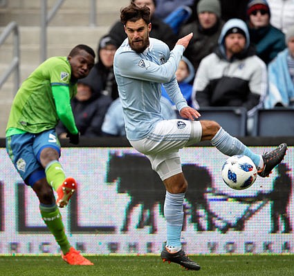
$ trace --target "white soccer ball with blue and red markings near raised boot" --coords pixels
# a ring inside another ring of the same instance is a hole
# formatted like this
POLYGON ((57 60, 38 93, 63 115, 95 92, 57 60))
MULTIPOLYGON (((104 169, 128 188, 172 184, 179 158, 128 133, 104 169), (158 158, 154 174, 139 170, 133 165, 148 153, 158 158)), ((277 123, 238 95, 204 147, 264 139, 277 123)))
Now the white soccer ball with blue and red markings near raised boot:
POLYGON ((255 182, 257 168, 248 156, 233 155, 223 164, 221 177, 230 188, 244 190, 255 182))

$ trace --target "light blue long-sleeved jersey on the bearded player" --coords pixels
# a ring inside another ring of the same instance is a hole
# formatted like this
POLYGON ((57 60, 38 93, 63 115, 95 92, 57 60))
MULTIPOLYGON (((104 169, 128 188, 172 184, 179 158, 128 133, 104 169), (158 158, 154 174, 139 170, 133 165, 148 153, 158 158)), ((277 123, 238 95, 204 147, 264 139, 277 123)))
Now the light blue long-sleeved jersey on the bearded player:
POLYGON ((149 47, 137 53, 125 39, 114 57, 113 70, 130 141, 147 137, 156 122, 163 120, 161 83, 178 110, 187 106, 175 75, 185 48, 177 45, 169 52, 163 41, 152 38, 149 41, 149 47))

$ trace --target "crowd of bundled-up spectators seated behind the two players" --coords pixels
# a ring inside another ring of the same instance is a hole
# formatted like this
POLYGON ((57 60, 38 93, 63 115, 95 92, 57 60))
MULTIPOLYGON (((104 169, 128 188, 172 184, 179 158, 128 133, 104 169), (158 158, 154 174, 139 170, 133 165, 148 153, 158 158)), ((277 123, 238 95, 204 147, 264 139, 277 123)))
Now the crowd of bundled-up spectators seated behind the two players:
MULTIPOLYGON (((294 1, 292 0, 131 0, 151 10, 150 37, 172 50, 193 32, 176 72, 187 103, 194 108, 294 108, 294 1)), ((80 80, 73 112, 81 135, 125 136, 113 57, 127 38, 118 19, 98 43, 98 61, 80 80), (87 87, 88 86, 88 87, 87 87), (84 92, 86 94, 86 92, 84 92)), ((162 86, 163 116, 176 117, 162 86), (166 101, 167 99, 167 101, 166 101), (172 112, 167 112, 169 108, 172 112)), ((65 130, 59 126, 59 134, 65 130)), ((62 136, 60 136, 62 137, 62 136)))

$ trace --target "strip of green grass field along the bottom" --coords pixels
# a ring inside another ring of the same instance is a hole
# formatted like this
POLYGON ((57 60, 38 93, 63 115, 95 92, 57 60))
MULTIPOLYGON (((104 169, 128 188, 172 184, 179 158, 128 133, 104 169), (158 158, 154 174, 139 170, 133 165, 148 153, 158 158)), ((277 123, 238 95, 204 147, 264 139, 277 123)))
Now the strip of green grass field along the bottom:
POLYGON ((158 256, 90 256, 94 266, 69 266, 57 256, 1 256, 1 276, 174 276, 294 275, 294 255, 201 255, 190 256, 201 270, 185 270, 177 264, 163 263, 158 256))

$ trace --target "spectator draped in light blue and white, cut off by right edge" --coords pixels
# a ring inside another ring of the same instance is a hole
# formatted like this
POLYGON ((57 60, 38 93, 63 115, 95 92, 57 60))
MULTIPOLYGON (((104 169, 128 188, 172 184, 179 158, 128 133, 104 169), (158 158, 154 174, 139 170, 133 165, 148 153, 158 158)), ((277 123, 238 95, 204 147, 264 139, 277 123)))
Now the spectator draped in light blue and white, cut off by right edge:
POLYGON ((286 46, 268 65, 265 108, 294 107, 294 25, 287 29, 286 46))

